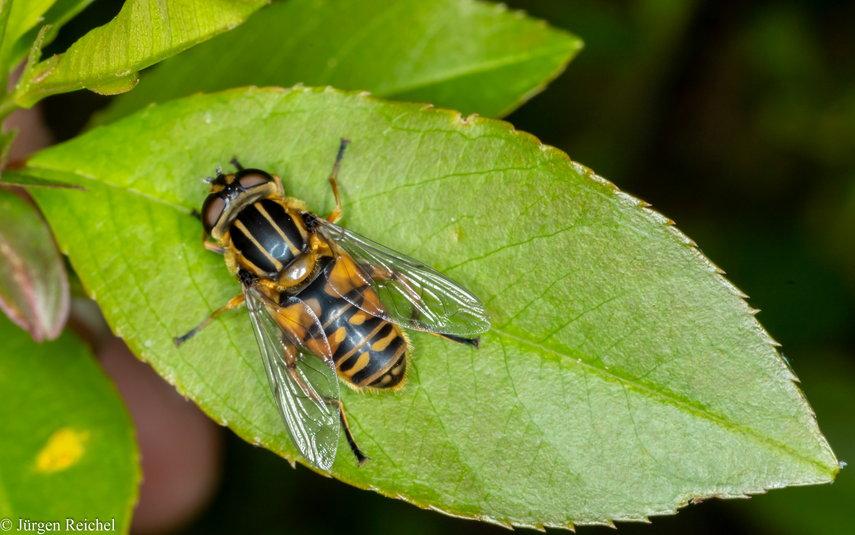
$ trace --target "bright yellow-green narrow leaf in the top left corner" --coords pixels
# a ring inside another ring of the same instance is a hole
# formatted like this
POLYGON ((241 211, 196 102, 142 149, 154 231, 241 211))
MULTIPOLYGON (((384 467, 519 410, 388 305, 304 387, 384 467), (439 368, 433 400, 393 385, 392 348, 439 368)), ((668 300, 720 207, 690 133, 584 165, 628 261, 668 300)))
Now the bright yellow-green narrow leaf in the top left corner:
POLYGON ((127 79, 142 68, 238 26, 266 3, 127 0, 113 21, 87 33, 64 53, 32 65, 32 72, 25 72, 15 90, 15 103, 29 108, 48 95, 127 79))

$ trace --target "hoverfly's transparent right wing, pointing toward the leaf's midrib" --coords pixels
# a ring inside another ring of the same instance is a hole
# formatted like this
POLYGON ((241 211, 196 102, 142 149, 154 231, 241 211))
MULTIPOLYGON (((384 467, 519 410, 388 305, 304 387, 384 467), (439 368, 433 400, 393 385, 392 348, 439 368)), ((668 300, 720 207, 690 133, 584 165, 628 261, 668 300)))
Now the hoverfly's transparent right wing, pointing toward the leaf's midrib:
POLYGON ((490 329, 490 315, 478 297, 409 256, 395 252, 356 232, 318 219, 321 235, 330 242, 336 262, 327 265, 333 290, 371 315, 417 331, 478 334, 490 329), (342 250, 358 267, 346 262, 342 250), (347 271, 334 277, 332 271, 347 271), (366 285, 374 289, 386 310, 372 306, 366 285), (364 289, 364 290, 363 290, 364 289))

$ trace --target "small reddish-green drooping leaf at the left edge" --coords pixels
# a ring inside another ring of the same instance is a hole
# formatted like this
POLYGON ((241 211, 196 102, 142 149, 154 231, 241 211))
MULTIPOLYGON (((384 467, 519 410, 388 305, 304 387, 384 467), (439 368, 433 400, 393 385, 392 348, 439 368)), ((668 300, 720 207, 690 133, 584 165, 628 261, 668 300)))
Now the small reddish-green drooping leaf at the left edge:
POLYGON ((36 342, 68 319, 68 277, 38 209, 0 188, 0 309, 36 342))

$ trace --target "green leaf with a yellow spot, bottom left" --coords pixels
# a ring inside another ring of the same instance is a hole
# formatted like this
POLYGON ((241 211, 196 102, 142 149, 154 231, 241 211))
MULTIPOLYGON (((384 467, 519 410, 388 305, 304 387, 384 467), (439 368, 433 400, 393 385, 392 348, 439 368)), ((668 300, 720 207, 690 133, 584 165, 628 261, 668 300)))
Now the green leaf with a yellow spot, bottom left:
MULTIPOLYGON (((127 409, 80 339, 35 344, 0 317, 0 513, 127 533, 139 453, 127 409)), ((35 530, 32 530, 35 532, 35 530)))

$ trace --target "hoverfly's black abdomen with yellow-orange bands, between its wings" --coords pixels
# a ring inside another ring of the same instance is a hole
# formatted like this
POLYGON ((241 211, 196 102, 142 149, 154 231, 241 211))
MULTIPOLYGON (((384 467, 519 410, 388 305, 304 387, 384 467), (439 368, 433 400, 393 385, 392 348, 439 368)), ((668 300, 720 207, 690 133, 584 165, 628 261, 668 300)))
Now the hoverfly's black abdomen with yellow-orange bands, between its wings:
POLYGON ((297 297, 321 321, 339 376, 357 388, 403 386, 410 348, 407 338, 397 325, 351 304, 352 301, 369 310, 378 304, 382 307, 370 285, 354 287, 347 299, 333 290, 327 273, 336 273, 334 262, 346 261, 322 258, 318 276, 297 297))

